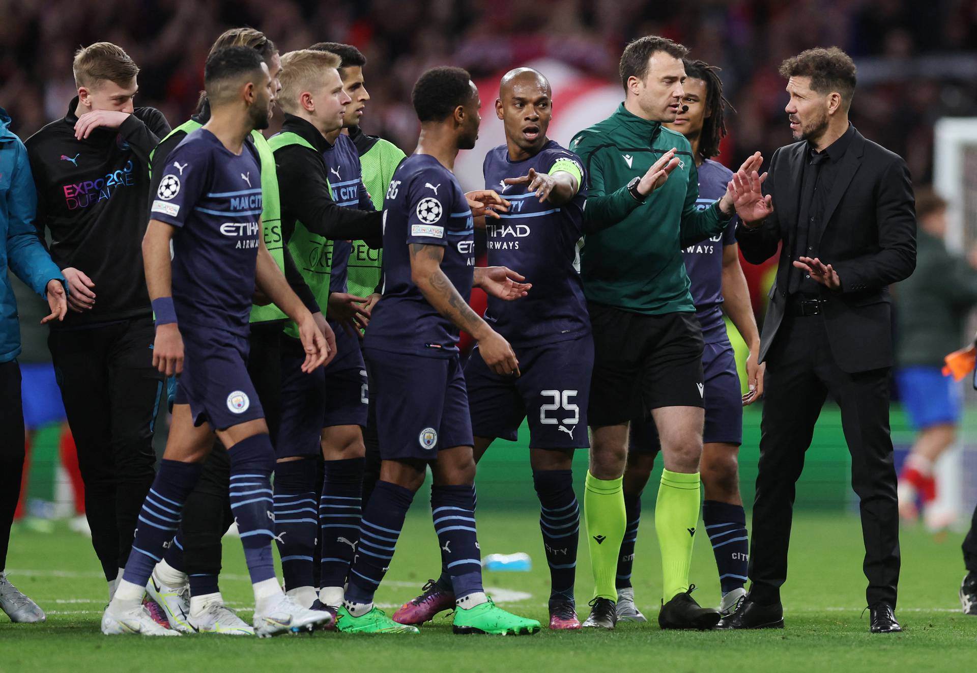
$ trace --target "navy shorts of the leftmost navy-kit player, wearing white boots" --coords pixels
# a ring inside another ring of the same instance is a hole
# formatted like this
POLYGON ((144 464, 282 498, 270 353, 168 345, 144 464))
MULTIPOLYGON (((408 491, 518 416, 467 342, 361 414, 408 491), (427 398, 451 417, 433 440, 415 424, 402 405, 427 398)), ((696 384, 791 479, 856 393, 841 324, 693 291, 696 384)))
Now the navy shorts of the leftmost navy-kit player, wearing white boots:
POLYGON ((190 404, 193 425, 225 430, 265 417, 247 373, 247 337, 182 325, 184 368, 176 404, 190 404))

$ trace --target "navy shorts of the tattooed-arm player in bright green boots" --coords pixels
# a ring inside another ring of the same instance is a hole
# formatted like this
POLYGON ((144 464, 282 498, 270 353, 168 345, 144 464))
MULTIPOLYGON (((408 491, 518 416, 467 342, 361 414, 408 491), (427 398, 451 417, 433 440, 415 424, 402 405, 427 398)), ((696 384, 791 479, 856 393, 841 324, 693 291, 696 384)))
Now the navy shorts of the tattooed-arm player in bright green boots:
POLYGON ((370 401, 384 460, 432 461, 438 451, 471 446, 472 420, 461 360, 363 350, 370 401))

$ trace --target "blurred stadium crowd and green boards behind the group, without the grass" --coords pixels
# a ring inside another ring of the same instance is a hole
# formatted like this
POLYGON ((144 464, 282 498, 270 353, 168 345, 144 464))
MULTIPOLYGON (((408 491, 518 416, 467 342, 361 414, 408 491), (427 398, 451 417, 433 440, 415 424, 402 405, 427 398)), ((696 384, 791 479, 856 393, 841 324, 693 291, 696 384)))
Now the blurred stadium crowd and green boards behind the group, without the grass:
MULTIPOLYGON (((736 112, 728 116, 730 133, 719 160, 731 166, 754 149, 769 157, 773 149, 790 142, 784 82, 777 68, 787 56, 815 45, 837 44, 855 58, 859 88, 852 121, 868 138, 904 156, 916 185, 933 180, 937 120, 977 114, 973 0, 31 0, 0 2, 0 16, 0 102, 23 138, 64 115, 74 95, 72 53, 96 40, 116 42, 129 52, 142 68, 137 105, 162 109, 174 125, 191 113, 202 88, 204 56, 214 37, 229 26, 259 27, 282 53, 319 40, 356 44, 368 60, 364 71, 372 97, 362 128, 408 153, 418 129, 409 102, 417 75, 435 64, 464 66, 472 72, 483 101, 479 144, 462 152, 458 161, 466 189, 481 187, 482 157, 503 140, 501 123, 491 108, 502 72, 529 63, 549 76, 555 103, 550 136, 567 144, 573 133, 606 116, 620 101, 616 68, 622 45, 648 33, 680 41, 696 58, 722 66, 726 96, 736 112)), ((269 133, 280 119, 277 114, 269 133)), ((977 183, 977 174, 969 179, 977 183)), ((960 245, 970 243, 977 223, 977 217, 965 219, 969 227, 962 228, 960 245)), ((772 270, 769 263, 744 264, 743 269, 762 321, 772 270)), ((46 330, 33 319, 43 307, 26 293, 19 295, 25 347, 21 359, 43 360, 46 330)), ((898 338, 898 319, 896 324, 898 338)), ((960 338, 962 345, 967 337, 960 338)), ((746 410, 741 469, 747 507, 759 416, 756 407, 746 410)), ((967 427, 974 423, 977 419, 968 414, 967 427)), ((159 427, 161 442, 165 423, 159 427)), ((893 407, 893 432, 902 454, 912 433, 898 404, 893 407)), ((55 469, 57 438, 57 431, 48 428, 35 438, 32 451, 28 511, 42 518, 64 513, 70 499, 64 476, 59 479, 55 469)), ((972 441, 974 435, 965 431, 963 438, 972 441)), ((965 509, 977 501, 977 453, 964 447, 960 456, 954 458, 956 469, 950 474, 969 475, 958 480, 953 493, 954 504, 965 509)), ((830 402, 807 462, 798 506, 850 508, 848 455, 837 410, 830 402)), ((516 444, 499 442, 481 469, 480 505, 530 504, 531 488, 506 487, 513 479, 527 481, 529 476, 525 438, 516 444), (491 494, 496 490, 499 497, 491 494)))

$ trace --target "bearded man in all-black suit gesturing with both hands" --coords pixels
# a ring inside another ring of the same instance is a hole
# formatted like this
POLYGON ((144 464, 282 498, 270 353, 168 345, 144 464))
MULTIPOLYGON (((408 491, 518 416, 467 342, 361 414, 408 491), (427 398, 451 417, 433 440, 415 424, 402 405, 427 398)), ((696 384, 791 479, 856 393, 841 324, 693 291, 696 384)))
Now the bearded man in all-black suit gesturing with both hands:
POLYGON ((871 632, 901 631, 899 513, 889 436, 890 283, 915 266, 913 187, 906 163, 848 122, 855 63, 840 49, 787 59, 786 113, 793 145, 768 174, 734 176, 766 217, 743 222, 743 256, 780 266, 763 324, 766 361, 759 473, 753 504, 750 591, 716 628, 783 627, 794 484, 828 394, 837 400, 861 501, 871 632))

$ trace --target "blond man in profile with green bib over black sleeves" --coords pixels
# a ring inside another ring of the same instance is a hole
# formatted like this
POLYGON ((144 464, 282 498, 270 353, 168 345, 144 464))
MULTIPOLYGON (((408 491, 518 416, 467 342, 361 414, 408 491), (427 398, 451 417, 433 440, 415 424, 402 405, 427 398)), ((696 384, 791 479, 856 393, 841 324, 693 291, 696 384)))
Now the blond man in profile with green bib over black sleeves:
MULTIPOLYGON (((337 284, 333 269, 340 253, 334 242, 376 240, 383 220, 363 187, 359 152, 350 137, 327 140, 342 128, 351 102, 337 70, 340 63, 335 54, 313 50, 282 57, 278 103, 285 120, 281 133, 270 141, 278 171, 282 235, 323 309, 330 293, 346 289, 345 273, 337 284)), ((349 247, 347 243, 347 256, 349 247)), ((342 605, 359 539, 361 426, 366 424, 360 347, 355 335, 344 339, 341 331, 336 334, 336 358, 323 372, 310 376, 301 371, 304 356, 294 326, 285 328, 276 441, 276 534, 285 587, 300 603, 332 612, 342 605), (337 428, 346 431, 344 441, 330 442, 330 431, 337 428), (320 436, 325 458, 322 484, 317 483, 315 469, 320 436), (317 594, 313 559, 319 531, 322 573, 317 594)))

